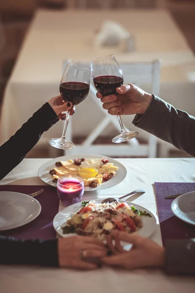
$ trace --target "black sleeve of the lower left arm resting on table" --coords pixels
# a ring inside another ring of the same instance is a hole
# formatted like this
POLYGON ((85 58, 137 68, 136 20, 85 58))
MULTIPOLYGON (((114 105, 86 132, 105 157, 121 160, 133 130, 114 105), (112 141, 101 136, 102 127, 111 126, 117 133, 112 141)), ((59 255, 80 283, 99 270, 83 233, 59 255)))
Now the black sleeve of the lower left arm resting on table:
POLYGON ((0 236, 0 264, 58 267, 58 240, 18 240, 0 236))

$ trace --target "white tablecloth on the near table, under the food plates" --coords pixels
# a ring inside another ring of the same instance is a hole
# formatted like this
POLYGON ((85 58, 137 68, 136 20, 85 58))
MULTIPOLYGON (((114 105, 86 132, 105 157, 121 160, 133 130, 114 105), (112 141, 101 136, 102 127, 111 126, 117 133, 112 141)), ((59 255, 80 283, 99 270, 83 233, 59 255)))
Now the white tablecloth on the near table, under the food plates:
MULTIPOLYGON (((38 168, 48 159, 25 159, 0 184, 44 184, 38 168)), ((125 180, 113 188, 98 192, 85 192, 83 199, 119 196, 136 188, 146 192, 129 200, 150 209, 156 214, 154 182, 195 182, 195 159, 118 159, 127 168, 125 180)), ((161 244, 159 225, 152 239, 161 244)), ((30 252, 32 253, 32 252, 30 252)), ((34 251, 36 253, 36 251, 34 251)), ((93 272, 78 272, 25 266, 0 266, 0 288, 6 293, 194 293, 195 278, 168 276, 160 270, 133 272, 101 268, 93 272), (193 289, 194 288, 194 289, 193 289), (4 289, 4 290, 3 290, 4 289)))

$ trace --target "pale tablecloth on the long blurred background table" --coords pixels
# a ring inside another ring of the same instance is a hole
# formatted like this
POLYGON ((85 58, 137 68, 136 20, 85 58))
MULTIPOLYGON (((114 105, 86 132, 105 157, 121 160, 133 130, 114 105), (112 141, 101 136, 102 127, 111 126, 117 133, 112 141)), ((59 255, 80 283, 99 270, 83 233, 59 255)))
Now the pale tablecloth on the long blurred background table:
MULTIPOLYGON (((7 140, 39 106, 59 94, 63 60, 71 58, 75 62, 90 62, 110 53, 116 55, 119 63, 161 59, 160 97, 195 114, 195 56, 166 10, 38 10, 6 87, 0 143, 7 140), (95 31, 106 20, 119 22, 135 35, 135 52, 94 47, 95 31)), ((82 135, 87 135, 103 118, 103 113, 94 105, 89 95, 77 106, 73 135, 80 135, 81 127, 82 135), (89 120, 89 112, 94 119, 89 120)), ((135 129, 129 119, 124 117, 124 122, 135 129)), ((110 133, 113 128, 107 130, 110 133)), ((61 132, 59 123, 45 133, 40 142, 59 137, 61 132)))

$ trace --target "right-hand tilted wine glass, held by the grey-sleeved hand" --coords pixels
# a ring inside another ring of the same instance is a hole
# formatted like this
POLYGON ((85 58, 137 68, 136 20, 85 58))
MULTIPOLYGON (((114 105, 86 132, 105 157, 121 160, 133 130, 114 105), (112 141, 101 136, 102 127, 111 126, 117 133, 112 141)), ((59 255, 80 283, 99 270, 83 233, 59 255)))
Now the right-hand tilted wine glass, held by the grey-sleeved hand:
MULTIPOLYGON (((122 71, 114 55, 106 55, 91 61, 93 81, 96 89, 103 95, 117 95, 116 88, 123 84, 122 71)), ((122 124, 120 115, 117 115, 121 134, 112 139, 113 143, 122 143, 138 135, 137 131, 127 132, 122 124)))

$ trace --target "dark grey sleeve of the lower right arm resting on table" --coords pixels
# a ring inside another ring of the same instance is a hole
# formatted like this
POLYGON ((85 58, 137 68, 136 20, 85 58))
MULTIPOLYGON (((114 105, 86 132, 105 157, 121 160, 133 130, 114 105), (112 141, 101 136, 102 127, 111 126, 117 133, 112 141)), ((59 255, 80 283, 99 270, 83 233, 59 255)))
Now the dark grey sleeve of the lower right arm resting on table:
POLYGON ((165 251, 167 273, 195 275, 195 238, 168 240, 165 251))

